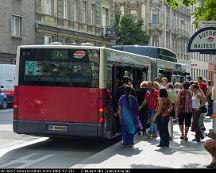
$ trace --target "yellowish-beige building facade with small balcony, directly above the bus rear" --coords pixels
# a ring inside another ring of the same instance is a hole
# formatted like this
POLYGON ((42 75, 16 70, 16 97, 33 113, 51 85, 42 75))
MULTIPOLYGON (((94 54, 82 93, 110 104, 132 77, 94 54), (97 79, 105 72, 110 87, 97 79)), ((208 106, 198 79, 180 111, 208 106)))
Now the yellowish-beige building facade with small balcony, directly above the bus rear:
POLYGON ((36 43, 114 43, 113 0, 36 0, 36 43))

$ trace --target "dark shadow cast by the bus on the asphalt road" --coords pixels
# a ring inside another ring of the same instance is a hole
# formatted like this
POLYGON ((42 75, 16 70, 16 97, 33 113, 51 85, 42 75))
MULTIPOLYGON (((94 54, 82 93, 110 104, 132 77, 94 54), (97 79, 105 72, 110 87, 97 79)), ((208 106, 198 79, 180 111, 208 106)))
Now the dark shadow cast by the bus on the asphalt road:
MULTIPOLYGON (((39 168, 70 168, 72 165, 91 157, 92 155, 100 152, 107 147, 110 147, 117 141, 117 139, 108 141, 95 138, 48 138, 42 142, 21 146, 19 148, 14 148, 10 151, 7 151, 3 156, 0 157, 0 168, 18 168, 19 166, 22 166, 24 164, 22 162, 19 163, 20 158, 22 160, 22 158, 26 158, 31 154, 35 154, 35 156, 31 156, 29 159, 24 159, 24 161, 28 162, 29 160, 29 162, 31 162, 31 160, 34 161, 46 156, 51 157, 44 160, 46 162, 43 161, 41 163, 37 163, 40 165, 39 168), (9 162, 11 162, 11 164, 7 165, 7 163, 9 162), (7 167, 2 167, 2 165, 5 164, 7 165, 7 167)), ((37 164, 31 166, 34 166, 33 168, 37 168, 37 164)))

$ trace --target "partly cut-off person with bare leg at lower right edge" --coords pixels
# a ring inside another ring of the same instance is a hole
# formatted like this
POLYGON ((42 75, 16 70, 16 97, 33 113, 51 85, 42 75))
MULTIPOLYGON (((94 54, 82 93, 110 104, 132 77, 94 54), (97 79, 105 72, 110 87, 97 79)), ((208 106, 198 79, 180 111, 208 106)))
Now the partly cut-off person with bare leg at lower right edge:
POLYGON ((211 138, 204 143, 204 148, 211 154, 212 161, 207 168, 216 168, 216 132, 210 130, 208 136, 211 138))

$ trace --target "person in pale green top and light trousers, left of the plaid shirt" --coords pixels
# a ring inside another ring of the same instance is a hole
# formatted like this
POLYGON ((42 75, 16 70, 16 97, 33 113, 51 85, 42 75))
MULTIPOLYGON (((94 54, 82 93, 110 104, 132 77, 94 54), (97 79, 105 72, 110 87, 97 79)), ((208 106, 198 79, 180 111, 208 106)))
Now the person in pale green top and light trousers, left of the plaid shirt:
POLYGON ((175 102, 176 102, 176 92, 173 90, 173 84, 168 83, 166 86, 167 92, 168 92, 168 98, 170 102, 173 105, 173 109, 169 114, 170 120, 168 124, 168 130, 169 130, 169 135, 170 135, 170 140, 173 139, 173 119, 175 118, 175 102))

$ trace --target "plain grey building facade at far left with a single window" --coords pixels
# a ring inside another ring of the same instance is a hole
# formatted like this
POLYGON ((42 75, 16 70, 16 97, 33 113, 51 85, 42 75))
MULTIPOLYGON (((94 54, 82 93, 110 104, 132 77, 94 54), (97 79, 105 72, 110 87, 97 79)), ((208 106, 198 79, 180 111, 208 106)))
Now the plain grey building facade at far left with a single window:
POLYGON ((0 4, 0 63, 15 64, 17 46, 35 44, 35 1, 0 4))

